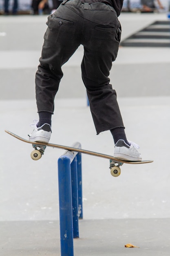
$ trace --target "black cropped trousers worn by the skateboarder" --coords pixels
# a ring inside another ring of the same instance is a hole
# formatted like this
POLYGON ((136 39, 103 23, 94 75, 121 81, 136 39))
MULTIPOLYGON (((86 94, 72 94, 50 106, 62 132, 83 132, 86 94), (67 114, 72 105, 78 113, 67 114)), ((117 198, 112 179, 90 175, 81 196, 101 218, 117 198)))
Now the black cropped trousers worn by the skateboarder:
MULTIPOLYGON (((97 134, 124 127, 116 92, 108 78, 112 62, 117 57, 121 34, 113 7, 104 3, 65 0, 48 17, 47 25, 35 77, 38 112, 53 114, 55 94, 63 76, 61 67, 82 44, 82 79, 97 134)), ((70 81, 69 86, 72 84, 74 81, 70 81)))

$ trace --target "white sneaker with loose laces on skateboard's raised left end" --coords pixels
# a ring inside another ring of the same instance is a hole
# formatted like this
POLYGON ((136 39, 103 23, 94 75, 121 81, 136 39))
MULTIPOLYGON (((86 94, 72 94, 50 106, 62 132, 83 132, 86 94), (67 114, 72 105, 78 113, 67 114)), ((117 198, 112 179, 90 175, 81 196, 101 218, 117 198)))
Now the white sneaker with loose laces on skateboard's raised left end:
POLYGON ((49 143, 51 137, 51 126, 49 124, 43 124, 41 127, 38 127, 38 120, 34 119, 33 124, 30 124, 31 127, 34 127, 33 132, 29 135, 29 141, 38 141, 49 143))

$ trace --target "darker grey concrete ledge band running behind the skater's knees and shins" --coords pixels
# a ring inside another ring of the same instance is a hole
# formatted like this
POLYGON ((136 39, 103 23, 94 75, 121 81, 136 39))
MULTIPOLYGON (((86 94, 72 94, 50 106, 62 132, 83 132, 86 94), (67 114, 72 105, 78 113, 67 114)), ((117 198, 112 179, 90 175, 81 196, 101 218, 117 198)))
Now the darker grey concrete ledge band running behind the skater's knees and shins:
MULTIPOLYGON (((64 66, 57 98, 85 98, 80 66, 64 66)), ((119 97, 170 96, 170 63, 114 65, 110 83, 119 97)), ((4 99, 35 99, 36 68, 0 70, 4 99), (10 88, 10 90, 9 90, 10 88)))

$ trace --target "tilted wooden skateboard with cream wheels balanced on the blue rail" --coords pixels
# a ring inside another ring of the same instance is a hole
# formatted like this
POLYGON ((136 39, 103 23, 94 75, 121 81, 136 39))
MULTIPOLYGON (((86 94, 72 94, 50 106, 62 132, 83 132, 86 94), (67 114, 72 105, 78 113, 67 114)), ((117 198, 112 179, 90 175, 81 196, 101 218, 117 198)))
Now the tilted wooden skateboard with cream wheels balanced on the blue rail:
POLYGON ((69 150, 69 151, 74 151, 74 152, 78 152, 78 153, 83 153, 83 154, 87 154, 87 155, 93 155, 96 157, 102 157, 102 158, 109 159, 110 160, 110 173, 114 177, 117 177, 120 175, 120 173, 121 173, 120 166, 122 166, 123 164, 147 164, 147 163, 153 162, 153 160, 146 160, 146 161, 140 161, 140 162, 124 161, 124 160, 117 159, 111 155, 105 155, 102 153, 84 150, 82 148, 74 148, 74 147, 63 146, 63 145, 52 144, 52 143, 44 143, 44 142, 32 142, 32 141, 29 141, 28 139, 24 139, 16 134, 14 134, 13 132, 10 132, 8 130, 5 130, 5 132, 7 132, 9 135, 15 137, 16 139, 19 139, 26 143, 32 144, 34 150, 31 152, 31 158, 33 160, 40 159, 42 157, 42 155, 44 155, 44 151, 45 151, 46 147, 61 148, 61 149, 69 150))

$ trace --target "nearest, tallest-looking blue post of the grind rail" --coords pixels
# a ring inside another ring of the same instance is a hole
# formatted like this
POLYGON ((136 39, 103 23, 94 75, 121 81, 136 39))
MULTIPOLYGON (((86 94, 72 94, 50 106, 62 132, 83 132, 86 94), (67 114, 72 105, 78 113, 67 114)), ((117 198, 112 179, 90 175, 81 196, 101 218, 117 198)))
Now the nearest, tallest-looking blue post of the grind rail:
POLYGON ((58 159, 61 256, 74 256, 70 164, 71 159, 67 156, 58 159))

